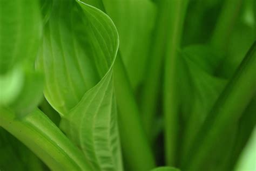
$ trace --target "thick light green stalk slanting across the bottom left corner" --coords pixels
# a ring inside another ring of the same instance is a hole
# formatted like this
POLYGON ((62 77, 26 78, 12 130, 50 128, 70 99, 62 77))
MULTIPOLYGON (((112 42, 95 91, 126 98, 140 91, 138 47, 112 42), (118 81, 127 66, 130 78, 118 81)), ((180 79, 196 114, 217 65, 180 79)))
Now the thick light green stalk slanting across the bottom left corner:
POLYGON ((0 126, 28 146, 52 170, 92 170, 60 129, 41 111, 22 119, 0 107, 0 126))

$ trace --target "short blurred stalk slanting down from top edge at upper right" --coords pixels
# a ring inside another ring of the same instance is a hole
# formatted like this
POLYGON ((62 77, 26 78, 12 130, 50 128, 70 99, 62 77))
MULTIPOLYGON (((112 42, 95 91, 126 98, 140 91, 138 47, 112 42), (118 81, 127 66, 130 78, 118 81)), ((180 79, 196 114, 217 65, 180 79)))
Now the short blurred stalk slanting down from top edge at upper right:
POLYGON ((244 0, 226 0, 218 17, 213 31, 211 44, 219 51, 225 51, 230 39, 234 24, 244 0))

